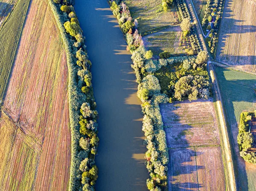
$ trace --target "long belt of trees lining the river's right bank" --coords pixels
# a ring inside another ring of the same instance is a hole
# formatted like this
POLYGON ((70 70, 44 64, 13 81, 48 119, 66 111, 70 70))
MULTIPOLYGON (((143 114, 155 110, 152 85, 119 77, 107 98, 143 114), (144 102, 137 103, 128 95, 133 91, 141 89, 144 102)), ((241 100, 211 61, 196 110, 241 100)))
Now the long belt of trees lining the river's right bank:
MULTIPOLYGON (((132 19, 128 7, 123 2, 119 4, 118 1, 112 1, 111 9, 125 34, 128 43, 127 50, 132 53, 131 67, 134 68, 139 84, 137 95, 142 101, 144 113, 142 129, 146 136, 144 144, 148 148, 145 153, 145 165, 150 175, 146 184, 150 191, 164 190, 167 189, 166 174, 169 155, 159 103, 167 103, 169 99, 165 94, 161 94, 158 79, 154 75, 146 74, 148 69, 145 68, 146 61, 154 62, 154 60, 149 59, 152 57, 151 52, 146 51, 142 37, 137 30, 137 21, 132 19)), ((160 59, 157 63, 164 66, 167 65, 167 60, 160 59)), ((151 65, 157 68, 157 65, 151 65)), ((150 67, 149 64, 147 66, 150 67)))

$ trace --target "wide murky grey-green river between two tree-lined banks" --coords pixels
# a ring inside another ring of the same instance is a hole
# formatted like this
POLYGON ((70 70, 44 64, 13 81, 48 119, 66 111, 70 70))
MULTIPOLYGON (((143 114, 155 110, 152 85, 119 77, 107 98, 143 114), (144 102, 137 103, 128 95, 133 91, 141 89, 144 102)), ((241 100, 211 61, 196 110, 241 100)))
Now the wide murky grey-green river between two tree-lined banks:
POLYGON ((76 0, 75 10, 92 62, 99 112, 96 191, 148 191, 143 115, 122 31, 106 0, 76 0))

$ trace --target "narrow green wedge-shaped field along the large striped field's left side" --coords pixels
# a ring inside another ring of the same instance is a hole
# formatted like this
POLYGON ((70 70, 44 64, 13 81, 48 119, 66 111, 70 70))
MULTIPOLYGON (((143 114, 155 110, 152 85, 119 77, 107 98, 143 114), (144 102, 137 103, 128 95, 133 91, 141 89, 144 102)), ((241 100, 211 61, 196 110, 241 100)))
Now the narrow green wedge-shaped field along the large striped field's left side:
POLYGON ((0 30, 0 103, 6 89, 30 0, 19 0, 0 30))

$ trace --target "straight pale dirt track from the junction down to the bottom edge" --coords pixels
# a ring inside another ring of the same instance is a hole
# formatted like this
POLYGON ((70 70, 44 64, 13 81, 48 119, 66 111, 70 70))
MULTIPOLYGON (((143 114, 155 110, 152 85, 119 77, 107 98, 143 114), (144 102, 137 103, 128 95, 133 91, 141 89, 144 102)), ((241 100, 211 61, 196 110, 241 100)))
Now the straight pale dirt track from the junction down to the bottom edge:
MULTIPOLYGON (((209 63, 208 63, 209 67, 209 63)), ((213 67, 211 67, 210 74, 212 74, 212 83, 213 83, 213 94, 215 98, 215 111, 217 113, 217 120, 218 120, 218 127, 220 131, 220 138, 222 142, 222 149, 223 149, 223 156, 224 156, 224 163, 226 165, 226 171, 227 171, 227 181, 226 185, 228 185, 230 191, 236 191, 236 179, 234 174, 234 165, 232 160, 232 154, 231 154, 231 148, 230 148, 230 140, 229 140, 229 134, 227 132, 227 125, 226 125, 226 118, 224 115, 223 107, 222 107, 222 99, 221 94, 219 91, 218 81, 216 80, 216 75, 213 67), (216 91, 216 92, 215 92, 216 91), (215 93, 217 95, 215 95, 215 93)))

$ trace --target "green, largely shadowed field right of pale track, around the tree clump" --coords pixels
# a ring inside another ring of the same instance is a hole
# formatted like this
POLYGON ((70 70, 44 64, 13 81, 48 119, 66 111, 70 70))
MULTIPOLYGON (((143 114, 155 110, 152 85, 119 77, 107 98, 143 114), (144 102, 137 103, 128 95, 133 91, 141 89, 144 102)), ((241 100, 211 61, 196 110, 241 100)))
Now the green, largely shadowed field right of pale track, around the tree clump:
POLYGON ((255 191, 255 165, 244 163, 237 144, 238 123, 242 111, 253 111, 255 105, 256 76, 240 71, 215 67, 221 91, 224 113, 234 156, 234 170, 239 191, 255 191))

